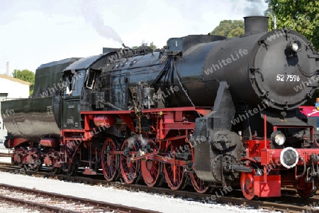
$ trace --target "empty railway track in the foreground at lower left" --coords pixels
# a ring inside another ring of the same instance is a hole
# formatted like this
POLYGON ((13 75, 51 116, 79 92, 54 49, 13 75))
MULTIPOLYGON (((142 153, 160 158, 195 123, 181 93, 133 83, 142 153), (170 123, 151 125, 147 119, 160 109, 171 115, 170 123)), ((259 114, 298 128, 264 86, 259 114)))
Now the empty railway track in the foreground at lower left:
POLYGON ((49 212, 155 212, 121 204, 94 201, 57 193, 31 190, 24 187, 0 184, 0 200, 49 212))

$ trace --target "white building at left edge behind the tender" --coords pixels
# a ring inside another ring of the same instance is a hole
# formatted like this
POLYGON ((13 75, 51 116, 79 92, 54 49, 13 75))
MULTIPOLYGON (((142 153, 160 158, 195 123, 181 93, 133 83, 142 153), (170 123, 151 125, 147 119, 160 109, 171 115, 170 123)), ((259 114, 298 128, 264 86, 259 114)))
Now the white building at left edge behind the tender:
MULTIPOLYGON (((0 75, 0 109, 1 102, 6 99, 23 99, 29 97, 30 83, 23 80, 19 80, 7 75, 0 75)), ((0 114, 0 147, 3 145, 4 137, 6 136, 6 129, 4 122, 2 121, 2 114, 0 114)))

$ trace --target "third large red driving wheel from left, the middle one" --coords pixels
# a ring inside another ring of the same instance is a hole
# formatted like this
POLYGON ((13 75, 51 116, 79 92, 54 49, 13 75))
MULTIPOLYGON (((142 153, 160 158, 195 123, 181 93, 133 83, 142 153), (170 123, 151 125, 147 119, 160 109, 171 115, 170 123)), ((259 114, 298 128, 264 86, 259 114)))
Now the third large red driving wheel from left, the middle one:
MULTIPOLYGON (((152 151, 157 150, 154 141, 149 140, 148 145, 152 151)), ((145 184, 149 187, 162 185, 162 163, 155 160, 142 160, 141 163, 142 177, 145 184)))

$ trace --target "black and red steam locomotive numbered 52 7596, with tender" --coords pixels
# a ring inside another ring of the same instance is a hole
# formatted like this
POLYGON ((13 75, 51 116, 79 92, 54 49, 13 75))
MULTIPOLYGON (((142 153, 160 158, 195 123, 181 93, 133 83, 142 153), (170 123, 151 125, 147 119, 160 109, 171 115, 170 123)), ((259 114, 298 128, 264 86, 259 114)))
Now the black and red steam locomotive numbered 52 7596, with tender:
POLYGON ((318 87, 319 55, 296 31, 245 17, 237 38, 188 35, 162 49, 38 67, 34 94, 1 103, 13 162, 106 180, 191 184, 197 192, 301 197, 318 187, 317 123, 298 110, 318 87), (11 111, 12 114, 6 114, 11 111))

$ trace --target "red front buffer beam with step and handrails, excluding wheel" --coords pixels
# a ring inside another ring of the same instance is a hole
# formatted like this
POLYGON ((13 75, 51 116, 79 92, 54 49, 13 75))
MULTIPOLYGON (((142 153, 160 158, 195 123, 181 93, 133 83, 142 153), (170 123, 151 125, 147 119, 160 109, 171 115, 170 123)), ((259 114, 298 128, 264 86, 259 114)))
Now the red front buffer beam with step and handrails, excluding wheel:
MULTIPOLYGON (((315 142, 313 137, 314 128, 312 126, 273 126, 273 131, 277 131, 280 128, 308 128, 310 129, 310 141, 315 142)), ((279 168, 280 154, 283 149, 272 149, 271 141, 267 138, 267 116, 264 116, 264 138, 252 137, 252 140, 244 141, 245 148, 247 148, 247 160, 246 164, 254 163, 262 165, 264 168, 264 175, 254 175, 254 193, 258 197, 280 197, 282 185, 294 185, 298 182, 298 176, 296 175, 296 169, 298 165, 303 165, 303 158, 306 165, 310 164, 310 155, 319 155, 319 149, 317 148, 296 148, 299 155, 299 160, 296 165, 294 177, 289 177, 281 180, 281 175, 267 175, 267 168, 275 165, 272 169, 286 169, 279 168), (276 168, 278 166, 278 168, 276 168), (272 190, 270 190, 272 189, 272 190)))

